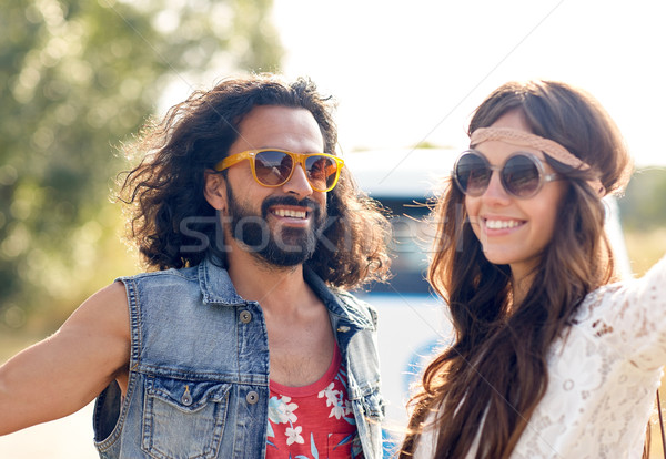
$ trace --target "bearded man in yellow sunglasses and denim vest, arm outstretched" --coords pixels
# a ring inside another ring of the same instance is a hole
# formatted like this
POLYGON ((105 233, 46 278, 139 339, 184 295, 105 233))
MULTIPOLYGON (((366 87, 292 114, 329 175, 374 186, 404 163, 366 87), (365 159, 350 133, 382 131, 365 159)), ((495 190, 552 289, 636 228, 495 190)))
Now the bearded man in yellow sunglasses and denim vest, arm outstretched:
POLYGON ((342 288, 386 275, 389 226, 331 109, 260 75, 153 125, 122 186, 153 272, 0 367, 0 435, 97 397, 102 458, 380 457, 376 315, 342 288))

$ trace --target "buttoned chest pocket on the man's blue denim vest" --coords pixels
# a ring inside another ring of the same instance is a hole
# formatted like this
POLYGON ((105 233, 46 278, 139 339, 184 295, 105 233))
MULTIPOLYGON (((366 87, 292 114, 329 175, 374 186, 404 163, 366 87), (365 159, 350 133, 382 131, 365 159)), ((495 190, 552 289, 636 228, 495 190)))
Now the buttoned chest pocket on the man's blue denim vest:
POLYGON ((141 449, 159 459, 216 458, 231 385, 147 378, 141 449))

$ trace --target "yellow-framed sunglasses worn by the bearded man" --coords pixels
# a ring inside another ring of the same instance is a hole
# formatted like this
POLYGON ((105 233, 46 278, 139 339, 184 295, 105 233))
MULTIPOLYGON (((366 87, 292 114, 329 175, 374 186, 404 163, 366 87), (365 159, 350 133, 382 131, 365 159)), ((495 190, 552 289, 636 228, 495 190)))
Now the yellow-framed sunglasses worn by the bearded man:
POLYGON ((296 164, 303 166, 312 190, 329 192, 337 184, 344 161, 327 153, 293 153, 286 150, 248 150, 232 154, 215 164, 215 171, 224 171, 241 161, 250 160, 252 175, 262 186, 284 185, 294 173, 296 164))

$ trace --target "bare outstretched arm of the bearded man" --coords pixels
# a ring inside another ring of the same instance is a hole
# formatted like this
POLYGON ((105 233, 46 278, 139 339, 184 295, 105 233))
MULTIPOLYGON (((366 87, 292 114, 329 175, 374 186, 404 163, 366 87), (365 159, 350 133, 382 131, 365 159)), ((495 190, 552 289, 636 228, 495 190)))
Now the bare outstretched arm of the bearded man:
POLYGON ((128 300, 114 283, 0 367, 0 435, 75 412, 127 371, 129 356, 128 300))

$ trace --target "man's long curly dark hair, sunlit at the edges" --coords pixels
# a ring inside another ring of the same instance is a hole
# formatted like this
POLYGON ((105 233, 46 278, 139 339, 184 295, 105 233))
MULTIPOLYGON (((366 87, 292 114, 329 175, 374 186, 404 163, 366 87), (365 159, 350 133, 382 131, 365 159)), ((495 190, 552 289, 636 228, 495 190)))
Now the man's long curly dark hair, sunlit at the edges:
MULTIPOLYGON (((149 269, 195 266, 210 255, 225 265, 225 254, 215 244, 219 223, 211 223, 218 216, 203 194, 204 171, 229 153, 239 124, 259 105, 309 110, 321 129, 325 152, 334 154, 334 102, 322 96, 309 79, 289 83, 260 74, 195 91, 161 122, 149 123, 125 149, 142 160, 121 181, 120 200, 130 208, 128 236, 149 269), (184 228, 183 222, 188 223, 184 228)), ((337 287, 385 279, 390 223, 379 204, 359 192, 344 167, 337 185, 327 193, 327 211, 330 223, 305 264, 337 287)))

